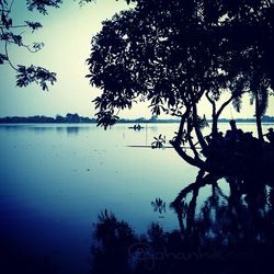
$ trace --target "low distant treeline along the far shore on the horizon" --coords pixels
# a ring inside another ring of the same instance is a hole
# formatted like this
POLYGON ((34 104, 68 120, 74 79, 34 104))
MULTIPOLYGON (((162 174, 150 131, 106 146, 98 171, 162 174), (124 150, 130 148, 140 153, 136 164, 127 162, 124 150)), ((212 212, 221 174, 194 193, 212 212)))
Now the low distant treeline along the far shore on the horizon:
MULTIPOLYGON (((152 116, 151 118, 136 118, 136 119, 125 119, 121 118, 117 123, 134 123, 134 124, 140 124, 140 123, 178 123, 180 119, 160 119, 156 116, 152 116)), ((210 119, 207 119, 209 123, 210 119)), ((230 119, 228 118, 220 118, 219 123, 228 123, 230 119)), ((236 122, 238 123, 255 123, 254 118, 237 118, 236 122)), ((263 116, 262 118, 263 123, 274 123, 274 117, 272 116, 263 116)), ((96 123, 95 118, 90 117, 82 117, 79 116, 77 113, 71 114, 68 113, 66 116, 56 115, 56 117, 46 117, 41 115, 35 116, 28 116, 28 117, 20 117, 20 116, 12 116, 12 117, 0 117, 0 123, 2 124, 9 124, 9 123, 96 123)))

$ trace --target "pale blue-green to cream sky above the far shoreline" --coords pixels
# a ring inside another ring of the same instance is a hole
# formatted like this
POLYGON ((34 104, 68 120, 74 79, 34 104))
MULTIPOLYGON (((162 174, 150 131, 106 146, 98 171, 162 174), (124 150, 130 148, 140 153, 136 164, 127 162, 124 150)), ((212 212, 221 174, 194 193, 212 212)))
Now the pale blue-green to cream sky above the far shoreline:
MULTIPOLYGON (((79 8, 77 1, 64 1, 60 9, 49 10, 49 15, 28 12, 25 1, 15 0, 13 18, 19 23, 24 20, 41 21, 44 27, 34 34, 24 33, 25 42, 44 42, 45 47, 36 54, 23 48, 10 48, 10 57, 14 65, 26 64, 46 67, 57 72, 58 81, 49 92, 42 91, 38 85, 27 88, 15 87, 14 71, 8 66, 0 66, 0 116, 11 115, 65 115, 79 113, 94 116, 91 101, 100 91, 89 84, 84 76, 89 72, 85 59, 90 54, 90 41, 101 28, 101 22, 111 19, 115 12, 127 9, 125 1, 98 0, 79 8)), ((228 107, 222 116, 251 117, 253 106, 244 100, 241 115, 228 107)), ((269 115, 274 115, 274 99, 271 99, 269 115)), ((199 114, 209 117, 208 105, 202 103, 199 114)), ((149 117, 146 105, 135 106, 133 111, 122 113, 124 117, 149 117)))

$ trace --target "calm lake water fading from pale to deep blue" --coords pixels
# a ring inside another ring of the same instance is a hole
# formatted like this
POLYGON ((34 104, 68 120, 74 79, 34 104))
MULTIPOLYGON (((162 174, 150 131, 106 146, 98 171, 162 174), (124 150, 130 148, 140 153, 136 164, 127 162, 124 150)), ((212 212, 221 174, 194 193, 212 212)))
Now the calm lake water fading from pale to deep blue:
MULTIPOLYGON (((171 139, 176 124, 148 124, 139 132, 128 126, 106 132, 93 124, 0 126, 0 262, 87 273, 93 224, 104 209, 138 232, 151 221, 178 228, 168 205, 195 181, 197 169, 173 149, 128 147, 149 146, 160 134, 171 139), (157 197, 167 203, 165 213, 151 207, 157 197)), ((254 124, 238 127, 255 132, 254 124)))

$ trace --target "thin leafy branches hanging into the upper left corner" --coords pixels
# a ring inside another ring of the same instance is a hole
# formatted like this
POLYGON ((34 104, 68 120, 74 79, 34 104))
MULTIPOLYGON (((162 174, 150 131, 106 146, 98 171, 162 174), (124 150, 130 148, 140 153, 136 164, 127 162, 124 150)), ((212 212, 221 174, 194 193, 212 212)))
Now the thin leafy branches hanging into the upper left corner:
MULTIPOLYGON (((79 4, 93 2, 93 0, 81 0, 79 4)), ((62 3, 61 0, 26 0, 25 4, 31 12, 38 11, 46 15, 48 9, 59 8, 62 3)), ((23 47, 31 53, 36 53, 44 46, 43 43, 33 43, 27 45, 24 42, 24 32, 30 30, 32 33, 43 27, 39 22, 22 21, 22 24, 14 24, 12 18, 12 10, 14 9, 14 1, 0 1, 0 43, 3 44, 4 53, 0 53, 0 65, 9 64, 16 71, 16 85, 26 87, 30 83, 37 83, 43 90, 48 90, 48 83, 54 84, 56 82, 56 73, 50 72, 45 68, 24 65, 15 66, 9 56, 10 45, 16 45, 23 47), (23 32, 22 32, 23 30, 23 32)))

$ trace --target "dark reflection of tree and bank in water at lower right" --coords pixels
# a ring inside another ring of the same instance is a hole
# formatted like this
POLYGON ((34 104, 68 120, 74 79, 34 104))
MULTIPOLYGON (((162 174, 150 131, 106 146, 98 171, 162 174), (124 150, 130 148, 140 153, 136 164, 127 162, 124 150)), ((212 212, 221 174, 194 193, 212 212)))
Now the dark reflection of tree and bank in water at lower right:
POLYGON ((95 224, 91 273, 272 273, 274 240, 273 181, 258 178, 226 178, 199 172, 182 190, 171 208, 180 229, 164 232, 151 224, 147 235, 107 210, 95 224), (210 195, 201 207, 202 189, 210 195))

